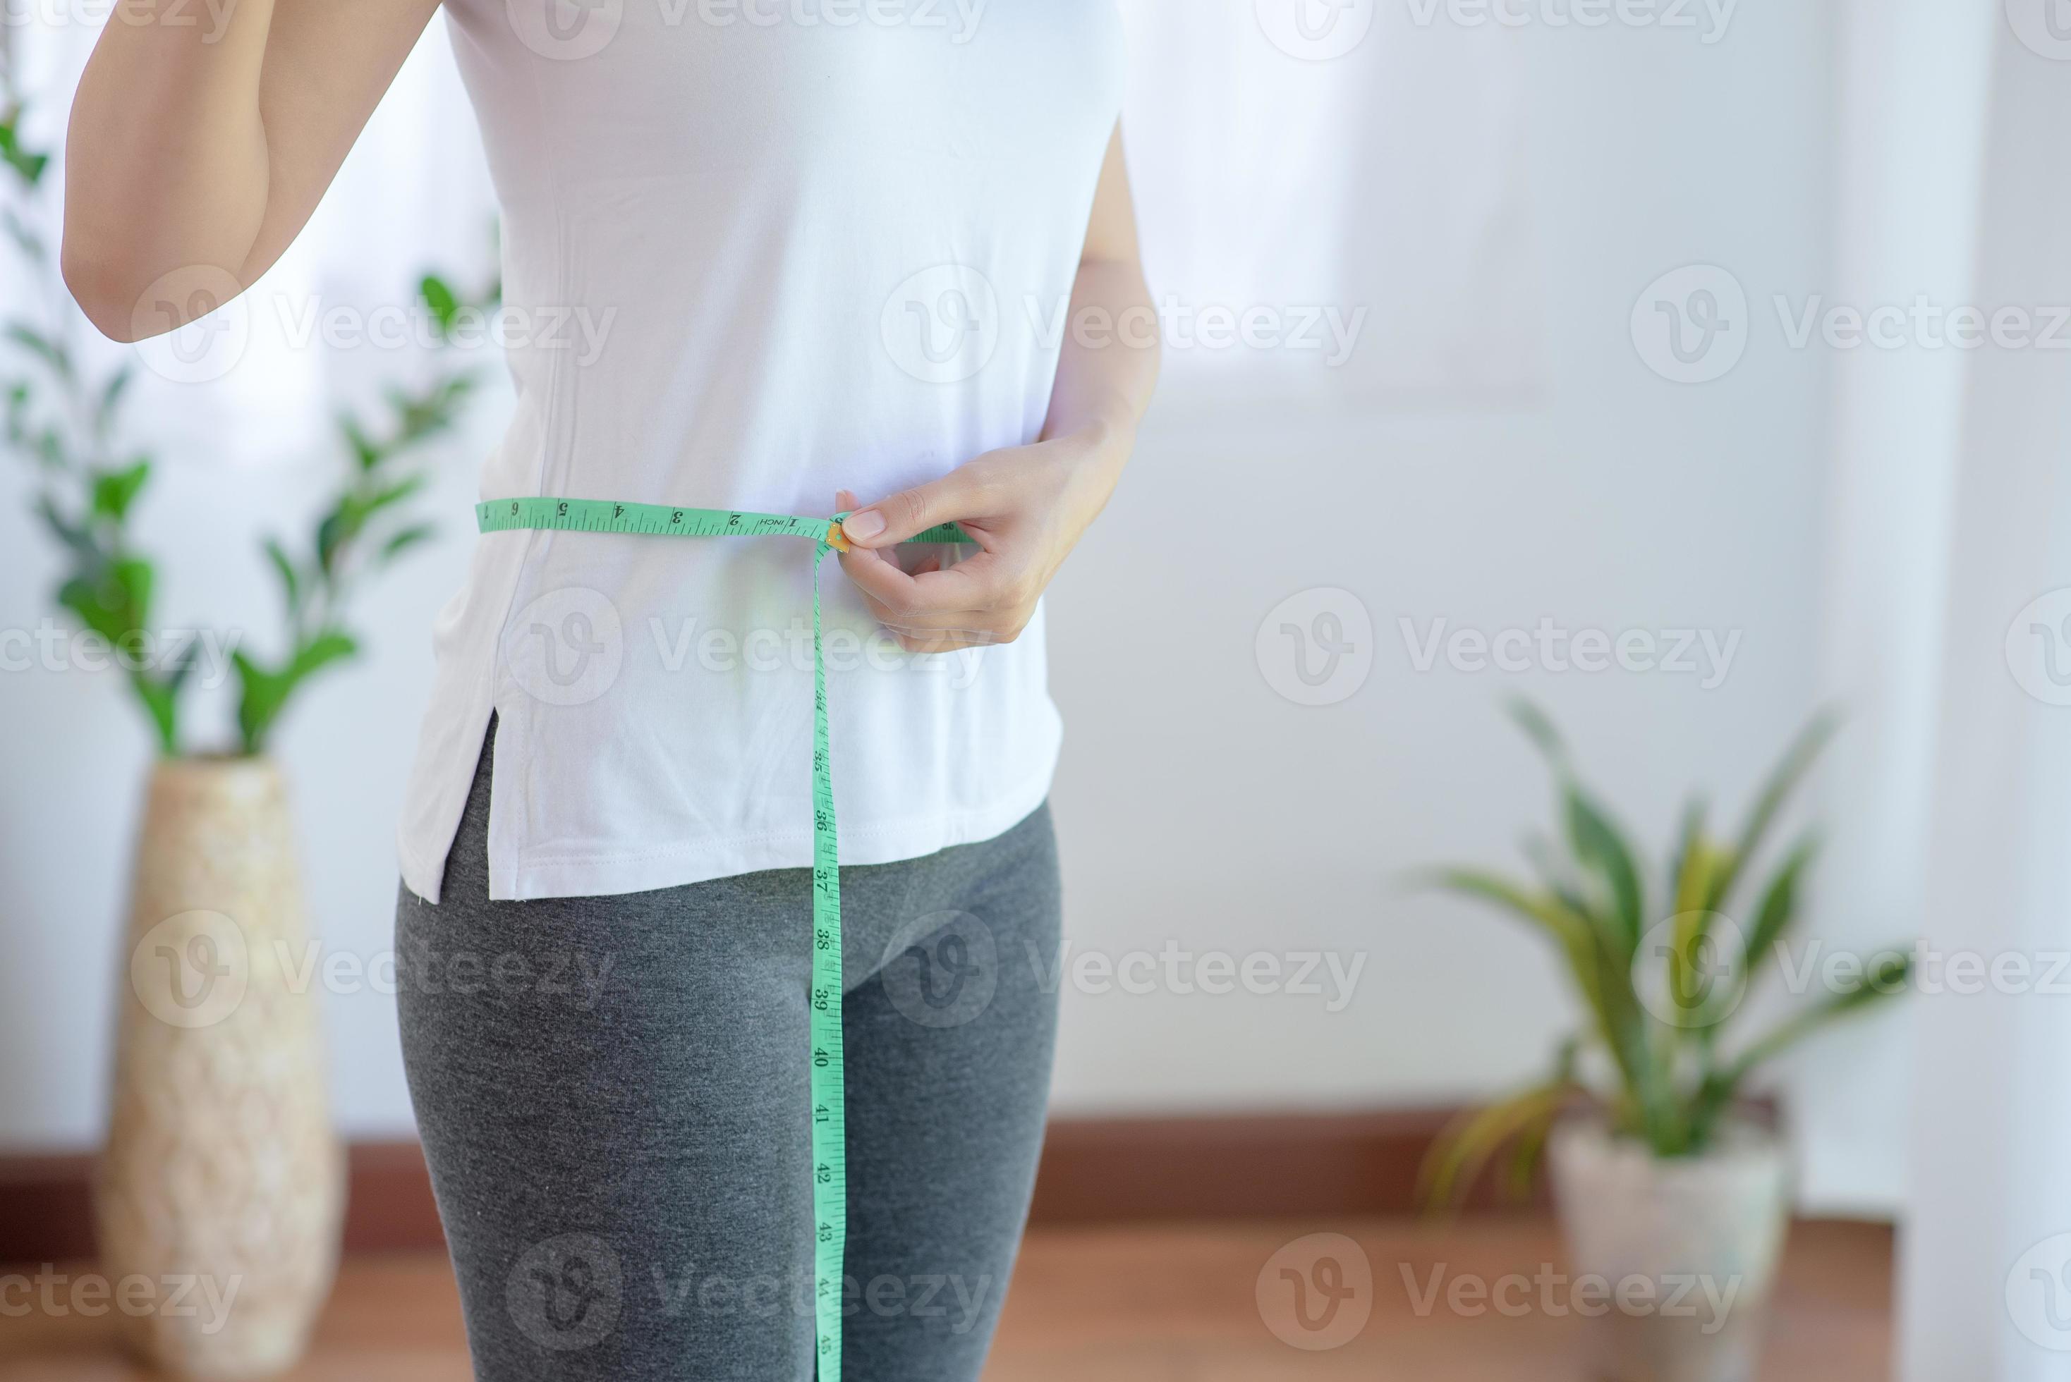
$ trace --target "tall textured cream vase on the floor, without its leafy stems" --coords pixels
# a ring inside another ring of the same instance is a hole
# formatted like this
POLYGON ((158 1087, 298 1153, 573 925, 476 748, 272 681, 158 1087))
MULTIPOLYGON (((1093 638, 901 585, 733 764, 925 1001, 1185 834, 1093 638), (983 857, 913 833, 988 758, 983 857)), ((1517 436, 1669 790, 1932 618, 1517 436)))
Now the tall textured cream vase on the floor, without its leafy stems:
POLYGON ((95 1212, 110 1283, 151 1291, 120 1312, 130 1343, 180 1376, 290 1368, 338 1268, 344 1154, 292 836, 267 759, 151 774, 95 1212))

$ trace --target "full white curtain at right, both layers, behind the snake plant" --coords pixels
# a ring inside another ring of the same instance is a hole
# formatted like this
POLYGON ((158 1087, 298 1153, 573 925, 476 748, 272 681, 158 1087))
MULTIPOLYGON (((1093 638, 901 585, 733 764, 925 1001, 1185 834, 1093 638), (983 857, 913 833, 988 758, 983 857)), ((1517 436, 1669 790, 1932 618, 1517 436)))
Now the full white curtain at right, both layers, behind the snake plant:
MULTIPOLYGON (((1837 298, 2067 310, 2071 52, 2044 19, 1849 2, 1837 298)), ((1907 1382, 2063 1382, 2071 341, 1847 352, 1835 385, 1827 683, 1856 730, 1822 908, 1854 941, 1918 935, 1924 968, 1905 1041, 1802 1070, 1808 1190, 1845 1200, 1825 1171, 1851 1159, 1903 1177, 1907 1382)))

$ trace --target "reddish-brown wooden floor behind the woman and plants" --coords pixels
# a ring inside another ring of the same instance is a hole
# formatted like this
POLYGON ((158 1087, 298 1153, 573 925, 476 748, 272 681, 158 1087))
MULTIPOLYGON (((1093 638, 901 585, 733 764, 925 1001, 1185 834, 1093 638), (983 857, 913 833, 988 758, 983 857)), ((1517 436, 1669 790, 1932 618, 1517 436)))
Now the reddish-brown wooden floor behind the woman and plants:
MULTIPOLYGON (((1458 1274, 1495 1281, 1559 1266, 1533 1219, 1458 1225, 1176 1225, 1044 1229, 1029 1235, 988 1382, 1582 1382, 1578 1320, 1506 1318, 1429 1299, 1458 1274), (1330 1351, 1292 1349, 1261 1318, 1257 1283, 1288 1241, 1352 1237, 1371 1262, 1371 1318, 1330 1351), (1414 1283, 1414 1287, 1406 1285, 1414 1283)), ((0 1268, 0 1283, 6 1268, 0 1268)), ((1762 1382, 1889 1376, 1891 1235, 1800 1225, 1791 1237, 1762 1382)), ((130 1382, 147 1374, 110 1345, 108 1320, 10 1316, 0 1291, 0 1380, 130 1382)), ((466 1382, 458 1297, 443 1258, 352 1258, 296 1382, 466 1382)), ((862 1378, 859 1382, 895 1382, 862 1378)))

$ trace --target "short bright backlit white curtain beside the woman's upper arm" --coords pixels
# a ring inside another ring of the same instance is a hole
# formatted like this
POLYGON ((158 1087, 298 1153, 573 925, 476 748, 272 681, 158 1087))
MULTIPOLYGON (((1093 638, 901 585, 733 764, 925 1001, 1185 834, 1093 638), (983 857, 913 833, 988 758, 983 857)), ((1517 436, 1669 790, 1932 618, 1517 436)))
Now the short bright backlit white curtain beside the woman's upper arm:
POLYGON ((1533 395, 1541 292, 1516 33, 1419 25, 1400 4, 1120 8, 1166 405, 1533 395), (1212 310, 1263 312, 1280 339, 1218 348, 1199 331, 1212 310))

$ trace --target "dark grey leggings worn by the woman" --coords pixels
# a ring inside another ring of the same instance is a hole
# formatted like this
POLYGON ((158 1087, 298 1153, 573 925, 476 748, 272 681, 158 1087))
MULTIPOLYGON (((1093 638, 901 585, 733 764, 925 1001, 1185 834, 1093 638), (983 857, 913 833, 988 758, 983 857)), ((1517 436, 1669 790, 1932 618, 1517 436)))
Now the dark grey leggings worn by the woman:
MULTIPOLYGON (((810 871, 489 902, 485 745, 443 902, 396 906, 404 1063, 474 1376, 814 1376, 810 871)), ((1048 807, 841 871, 851 1382, 978 1378, 1056 1032, 1048 807)))

